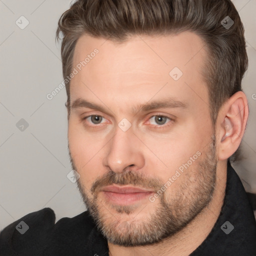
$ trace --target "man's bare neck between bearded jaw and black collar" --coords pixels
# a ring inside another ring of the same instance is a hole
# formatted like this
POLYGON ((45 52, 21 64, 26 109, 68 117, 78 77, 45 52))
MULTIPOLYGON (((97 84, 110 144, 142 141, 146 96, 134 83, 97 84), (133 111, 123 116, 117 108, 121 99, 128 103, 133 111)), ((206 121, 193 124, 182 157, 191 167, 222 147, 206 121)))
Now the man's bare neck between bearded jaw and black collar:
POLYGON ((187 256, 205 240, 213 228, 225 196, 226 162, 219 161, 216 169, 216 185, 209 204, 182 230, 154 244, 124 247, 108 242, 109 256, 187 256), (189 242, 188 242, 189 241, 189 242))

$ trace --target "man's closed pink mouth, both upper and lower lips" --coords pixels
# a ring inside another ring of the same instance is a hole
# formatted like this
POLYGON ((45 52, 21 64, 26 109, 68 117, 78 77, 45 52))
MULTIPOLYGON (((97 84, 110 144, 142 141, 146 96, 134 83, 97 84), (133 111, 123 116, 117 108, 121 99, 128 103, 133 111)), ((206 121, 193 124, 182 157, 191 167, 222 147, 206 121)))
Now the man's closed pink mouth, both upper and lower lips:
POLYGON ((109 185, 104 186, 100 190, 105 199, 113 204, 129 205, 138 201, 147 199, 150 194, 154 193, 152 190, 147 190, 139 187, 128 185, 109 185))

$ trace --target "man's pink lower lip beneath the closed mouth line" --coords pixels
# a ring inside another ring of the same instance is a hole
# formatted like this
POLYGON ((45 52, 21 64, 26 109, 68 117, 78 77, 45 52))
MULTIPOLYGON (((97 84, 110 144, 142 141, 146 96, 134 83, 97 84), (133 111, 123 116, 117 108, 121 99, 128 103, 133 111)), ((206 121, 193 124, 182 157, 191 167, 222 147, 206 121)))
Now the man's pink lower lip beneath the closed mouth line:
POLYGON ((137 193, 115 193, 110 191, 102 191, 108 201, 118 205, 128 205, 139 200, 148 198, 153 192, 137 192, 137 193))

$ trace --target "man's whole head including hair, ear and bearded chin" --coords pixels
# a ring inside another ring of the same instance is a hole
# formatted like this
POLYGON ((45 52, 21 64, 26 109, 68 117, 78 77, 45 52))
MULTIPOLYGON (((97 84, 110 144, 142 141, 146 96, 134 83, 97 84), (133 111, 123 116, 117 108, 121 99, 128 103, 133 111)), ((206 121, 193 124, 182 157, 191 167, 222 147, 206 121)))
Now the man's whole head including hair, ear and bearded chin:
POLYGON ((248 115, 243 32, 229 0, 78 0, 62 14, 70 161, 110 242, 157 242, 210 202, 248 115))

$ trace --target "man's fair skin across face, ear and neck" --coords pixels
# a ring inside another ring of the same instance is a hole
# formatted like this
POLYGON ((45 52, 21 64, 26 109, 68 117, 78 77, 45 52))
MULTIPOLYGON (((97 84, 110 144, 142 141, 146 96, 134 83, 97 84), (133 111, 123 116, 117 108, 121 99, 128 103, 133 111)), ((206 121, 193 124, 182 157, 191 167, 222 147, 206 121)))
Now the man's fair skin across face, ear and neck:
POLYGON ((212 126, 206 81, 200 72, 207 60, 203 46, 201 38, 188 31, 167 36, 134 35, 123 43, 89 35, 77 41, 73 67, 94 48, 99 52, 71 79, 70 104, 83 98, 105 109, 70 109, 69 153, 73 168, 80 174, 80 192, 98 206, 104 225, 118 223, 114 232, 122 234, 132 223, 139 225, 155 213, 160 199, 141 199, 126 207, 127 214, 120 205, 109 202, 102 191, 97 193, 97 201, 93 200, 90 189, 95 180, 109 170, 119 175, 131 170, 145 180, 155 178, 164 184, 199 151, 198 159, 164 191, 168 203, 182 193, 184 201, 176 206, 181 207, 183 202, 192 205, 191 194, 196 195, 198 189, 199 163, 207 161, 213 134, 216 140, 212 159, 216 163, 212 170, 216 175, 214 190, 200 213, 181 230, 153 244, 126 247, 108 241, 109 255, 188 255, 216 222, 223 204, 227 158, 240 144, 248 107, 244 93, 235 93, 223 104, 212 126), (183 72, 177 81, 169 75, 175 66, 183 72), (179 100, 186 107, 133 111, 140 104, 166 97, 179 100), (89 117, 82 119, 96 114, 104 117, 101 126, 89 117), (159 125, 151 118, 155 115, 173 120, 159 125), (123 118, 131 124, 126 131, 118 127, 123 118))

